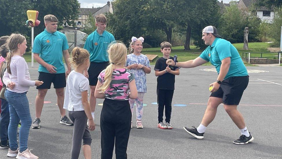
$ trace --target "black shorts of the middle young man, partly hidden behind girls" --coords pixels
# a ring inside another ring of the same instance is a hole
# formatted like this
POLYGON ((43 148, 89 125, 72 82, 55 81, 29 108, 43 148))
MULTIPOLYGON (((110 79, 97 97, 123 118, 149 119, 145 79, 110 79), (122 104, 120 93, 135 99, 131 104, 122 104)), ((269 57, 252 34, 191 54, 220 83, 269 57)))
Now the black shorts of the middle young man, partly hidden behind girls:
POLYGON ((98 82, 98 76, 107 66, 109 62, 91 62, 88 68, 89 85, 96 86, 98 82))

